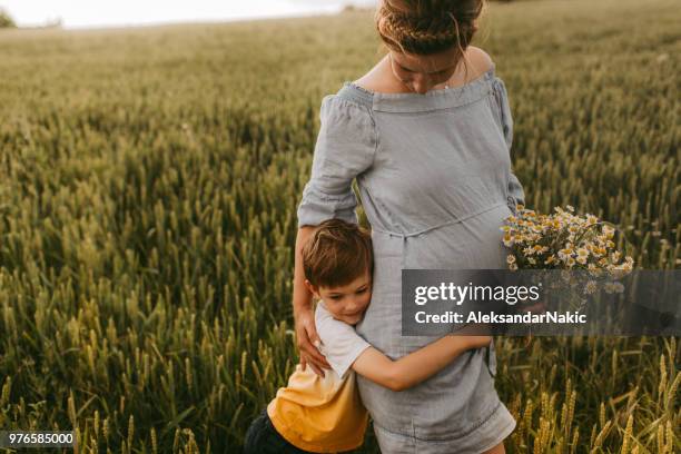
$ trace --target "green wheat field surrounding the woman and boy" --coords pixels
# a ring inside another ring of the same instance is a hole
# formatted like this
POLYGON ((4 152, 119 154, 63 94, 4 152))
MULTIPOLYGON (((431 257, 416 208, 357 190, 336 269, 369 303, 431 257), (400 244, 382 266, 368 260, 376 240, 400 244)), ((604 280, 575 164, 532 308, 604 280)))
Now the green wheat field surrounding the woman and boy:
MULTIPOLYGON (((618 224, 641 268, 681 266, 679 7, 491 3, 474 42, 509 90, 527 206, 618 224)), ((297 363, 320 100, 377 49, 366 11, 0 31, 0 430, 239 452, 297 363)), ((507 452, 681 452, 678 340, 497 338, 507 452)))

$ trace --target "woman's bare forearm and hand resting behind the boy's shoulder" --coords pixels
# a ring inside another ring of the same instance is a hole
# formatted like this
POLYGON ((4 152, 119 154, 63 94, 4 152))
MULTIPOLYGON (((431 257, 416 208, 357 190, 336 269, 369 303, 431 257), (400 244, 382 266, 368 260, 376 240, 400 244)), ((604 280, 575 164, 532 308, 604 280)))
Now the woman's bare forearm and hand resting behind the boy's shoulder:
POLYGON ((303 226, 298 229, 296 236, 293 308, 300 366, 305 371, 305 365, 309 364, 317 375, 324 377, 323 368, 330 368, 330 365, 314 345, 320 343, 320 339, 312 309, 313 295, 305 287, 305 273, 303 272, 303 246, 315 233, 315 229, 314 226, 303 226))

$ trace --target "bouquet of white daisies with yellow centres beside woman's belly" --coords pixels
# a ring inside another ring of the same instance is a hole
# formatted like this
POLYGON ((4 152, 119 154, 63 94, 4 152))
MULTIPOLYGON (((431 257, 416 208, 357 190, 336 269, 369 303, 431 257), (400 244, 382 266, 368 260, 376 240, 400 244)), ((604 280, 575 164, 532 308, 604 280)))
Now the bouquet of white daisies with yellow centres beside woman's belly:
POLYGON ((501 229, 503 244, 511 249, 506 257, 509 268, 562 269, 564 280, 578 293, 595 293, 601 287, 599 282, 606 293, 622 293, 624 288, 616 279, 632 270, 633 259, 622 257, 616 249, 616 227, 591 214, 575 215, 570 205, 566 209, 555 207, 554 211, 543 215, 517 205, 516 214, 506 218, 501 229), (578 275, 589 278, 576 282, 578 275))

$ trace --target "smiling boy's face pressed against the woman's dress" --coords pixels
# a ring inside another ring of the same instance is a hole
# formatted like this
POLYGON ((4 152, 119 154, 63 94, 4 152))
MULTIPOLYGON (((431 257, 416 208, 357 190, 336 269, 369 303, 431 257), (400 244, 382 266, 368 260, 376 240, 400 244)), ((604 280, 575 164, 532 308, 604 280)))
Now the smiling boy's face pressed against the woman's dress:
POLYGON ((348 325, 359 323, 372 299, 372 277, 368 272, 338 287, 315 287, 307 279, 305 284, 317 298, 324 299, 334 318, 348 325))

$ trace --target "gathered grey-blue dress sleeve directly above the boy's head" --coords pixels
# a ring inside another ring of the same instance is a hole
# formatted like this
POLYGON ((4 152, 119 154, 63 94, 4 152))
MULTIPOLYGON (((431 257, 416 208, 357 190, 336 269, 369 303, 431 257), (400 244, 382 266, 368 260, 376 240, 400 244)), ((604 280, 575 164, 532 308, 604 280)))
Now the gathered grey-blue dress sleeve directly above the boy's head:
POLYGON ((322 100, 312 174, 298 205, 298 228, 339 218, 357 224, 353 179, 374 160, 376 130, 368 108, 328 95, 322 100))

